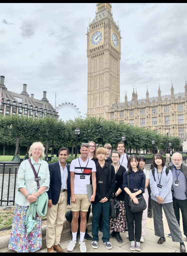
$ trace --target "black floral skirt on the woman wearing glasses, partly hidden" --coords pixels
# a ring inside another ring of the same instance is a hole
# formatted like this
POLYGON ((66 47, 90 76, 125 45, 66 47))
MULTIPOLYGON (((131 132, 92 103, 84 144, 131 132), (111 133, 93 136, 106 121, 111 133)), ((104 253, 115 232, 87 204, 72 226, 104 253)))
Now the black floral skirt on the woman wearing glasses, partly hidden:
POLYGON ((124 233, 126 230, 126 210, 124 207, 124 201, 118 201, 118 203, 119 215, 117 218, 110 217, 110 230, 124 233))

